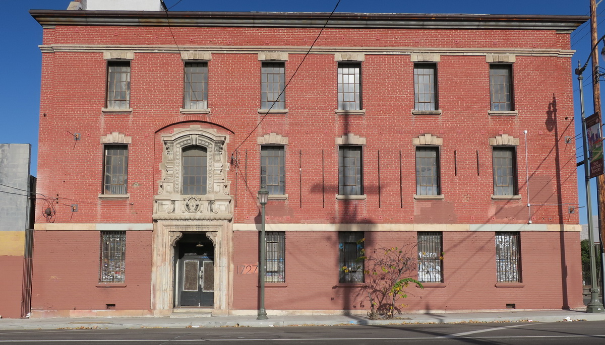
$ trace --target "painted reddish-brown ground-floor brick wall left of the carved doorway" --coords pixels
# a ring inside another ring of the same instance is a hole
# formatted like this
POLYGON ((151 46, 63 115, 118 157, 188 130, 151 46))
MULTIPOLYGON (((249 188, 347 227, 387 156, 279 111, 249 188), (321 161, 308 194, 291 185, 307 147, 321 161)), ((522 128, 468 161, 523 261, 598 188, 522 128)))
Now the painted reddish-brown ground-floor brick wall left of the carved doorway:
POLYGON ((126 282, 99 283, 99 231, 36 231, 32 315, 45 311, 149 310, 151 231, 126 231, 126 282))

